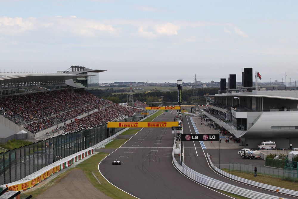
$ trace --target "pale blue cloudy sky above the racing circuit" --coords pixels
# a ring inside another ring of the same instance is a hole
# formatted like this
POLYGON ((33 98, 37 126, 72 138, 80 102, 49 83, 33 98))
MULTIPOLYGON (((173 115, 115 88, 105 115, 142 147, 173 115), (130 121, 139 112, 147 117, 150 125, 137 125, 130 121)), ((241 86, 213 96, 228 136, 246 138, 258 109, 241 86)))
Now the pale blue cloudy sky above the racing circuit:
POLYGON ((100 82, 298 81, 298 1, 0 0, 0 69, 102 69, 100 82))

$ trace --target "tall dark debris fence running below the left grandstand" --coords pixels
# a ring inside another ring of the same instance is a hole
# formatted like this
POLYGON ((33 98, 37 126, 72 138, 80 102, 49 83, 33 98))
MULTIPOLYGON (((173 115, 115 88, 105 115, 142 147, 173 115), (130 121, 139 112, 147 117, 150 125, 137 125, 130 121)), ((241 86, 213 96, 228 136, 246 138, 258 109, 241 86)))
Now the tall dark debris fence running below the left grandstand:
MULTIPOLYGON (((144 118, 143 115, 136 114, 119 121, 139 121, 142 118, 144 118)), ((2 152, 0 153, 0 184, 18 181, 61 158, 87 149, 122 129, 108 129, 107 124, 103 124, 2 152)))

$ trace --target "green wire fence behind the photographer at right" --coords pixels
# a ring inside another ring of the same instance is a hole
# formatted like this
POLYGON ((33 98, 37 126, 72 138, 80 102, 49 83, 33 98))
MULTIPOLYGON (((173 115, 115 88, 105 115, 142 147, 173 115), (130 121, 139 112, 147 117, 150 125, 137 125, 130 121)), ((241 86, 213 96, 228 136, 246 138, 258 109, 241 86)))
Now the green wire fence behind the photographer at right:
POLYGON ((284 169, 281 169, 268 166, 257 166, 254 164, 229 163, 229 171, 242 171, 253 174, 255 166, 257 167, 258 174, 275 178, 287 178, 295 181, 298 179, 297 168, 293 167, 284 167, 284 169))

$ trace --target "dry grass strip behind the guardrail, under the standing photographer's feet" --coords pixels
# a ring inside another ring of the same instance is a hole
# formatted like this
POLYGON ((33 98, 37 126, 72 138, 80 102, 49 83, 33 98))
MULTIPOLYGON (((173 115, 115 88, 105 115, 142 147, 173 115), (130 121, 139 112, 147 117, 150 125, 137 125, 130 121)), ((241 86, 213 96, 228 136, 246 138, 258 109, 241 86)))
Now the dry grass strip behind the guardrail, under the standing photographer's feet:
POLYGON ((297 182, 291 182, 291 181, 286 181, 280 178, 274 178, 271 176, 264 176, 262 174, 258 174, 257 177, 254 177, 253 173, 247 173, 247 172, 240 172, 240 171, 229 171, 229 169, 222 169, 223 171, 230 173, 232 175, 245 178, 248 180, 252 180, 255 182, 260 182, 264 184, 269 184, 272 186, 278 186, 282 187, 285 189, 291 189, 298 191, 298 183, 297 182))

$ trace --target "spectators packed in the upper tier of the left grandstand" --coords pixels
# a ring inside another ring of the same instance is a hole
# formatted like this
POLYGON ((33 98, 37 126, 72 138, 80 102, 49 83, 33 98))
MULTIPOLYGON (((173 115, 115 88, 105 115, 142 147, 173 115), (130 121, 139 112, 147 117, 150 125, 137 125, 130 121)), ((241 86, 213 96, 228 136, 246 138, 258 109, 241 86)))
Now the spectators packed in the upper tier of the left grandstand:
POLYGON ((26 124, 90 104, 93 96, 70 90, 6 96, 0 98, 0 113, 17 124, 26 124))

